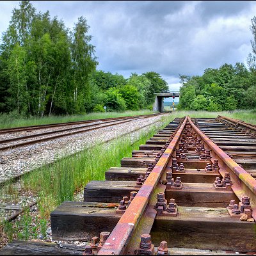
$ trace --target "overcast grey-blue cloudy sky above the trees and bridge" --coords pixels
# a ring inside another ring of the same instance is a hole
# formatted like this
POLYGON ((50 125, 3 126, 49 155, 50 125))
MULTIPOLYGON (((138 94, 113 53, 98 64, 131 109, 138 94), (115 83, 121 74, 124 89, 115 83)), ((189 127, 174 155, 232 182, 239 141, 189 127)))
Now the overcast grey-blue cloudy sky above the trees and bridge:
MULTIPOLYGON (((68 28, 84 16, 93 36, 97 69, 129 77, 155 71, 179 88, 179 74, 245 63, 252 51, 255 1, 31 1, 68 28)), ((0 33, 19 1, 0 1, 0 33)))

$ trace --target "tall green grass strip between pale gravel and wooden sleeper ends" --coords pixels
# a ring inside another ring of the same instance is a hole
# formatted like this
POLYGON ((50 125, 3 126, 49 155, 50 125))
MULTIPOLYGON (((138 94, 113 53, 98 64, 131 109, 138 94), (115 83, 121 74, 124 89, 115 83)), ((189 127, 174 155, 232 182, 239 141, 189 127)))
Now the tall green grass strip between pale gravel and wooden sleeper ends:
MULTIPOLYGON (((173 116, 164 118, 161 127, 173 116)), ((131 136, 123 136, 104 145, 86 148, 75 156, 68 156, 24 175, 24 188, 32 189, 39 198, 40 214, 49 217, 50 212, 65 200, 74 200, 74 193, 90 180, 104 180, 104 173, 111 166, 120 166, 123 157, 131 156, 141 143, 152 136, 159 125, 152 125, 131 143, 131 136)))

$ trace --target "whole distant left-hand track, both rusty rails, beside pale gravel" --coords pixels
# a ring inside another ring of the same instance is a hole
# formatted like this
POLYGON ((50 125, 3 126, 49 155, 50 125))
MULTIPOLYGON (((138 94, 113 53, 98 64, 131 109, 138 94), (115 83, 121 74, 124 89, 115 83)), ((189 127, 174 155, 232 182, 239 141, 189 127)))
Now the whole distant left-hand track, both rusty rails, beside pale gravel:
POLYGON ((0 130, 0 134, 6 134, 6 133, 10 134, 15 132, 16 136, 13 136, 12 138, 2 139, 2 140, 0 139, 0 145, 1 145, 0 151, 9 150, 9 149, 18 148, 18 147, 24 147, 26 145, 32 145, 35 143, 40 143, 42 141, 54 140, 57 138, 70 136, 70 135, 81 133, 81 132, 88 132, 96 129, 101 129, 104 127, 109 127, 117 124, 125 124, 127 122, 131 122, 132 120, 138 120, 138 119, 148 118, 148 117, 157 116, 157 115, 161 115, 161 114, 125 116, 120 118, 106 118, 106 119, 97 119, 97 120, 89 120, 89 121, 68 122, 63 124, 37 125, 32 127, 3 129, 3 130, 0 130), (65 129, 62 128, 70 125, 72 125, 72 127, 65 128, 65 129), (36 131, 38 129, 48 130, 56 127, 61 127, 61 129, 55 129, 54 131, 36 132, 36 133, 25 135, 25 136, 23 135, 24 132, 36 131), (19 134, 19 132, 22 132, 22 134, 19 134), (18 142, 18 141, 21 141, 21 142, 18 142))

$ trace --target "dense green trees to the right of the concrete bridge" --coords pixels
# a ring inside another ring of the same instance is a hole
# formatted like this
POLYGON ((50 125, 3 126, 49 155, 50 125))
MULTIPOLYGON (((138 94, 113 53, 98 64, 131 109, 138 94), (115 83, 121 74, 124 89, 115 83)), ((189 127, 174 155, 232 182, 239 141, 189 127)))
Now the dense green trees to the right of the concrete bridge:
POLYGON ((207 68, 202 76, 180 75, 179 109, 222 111, 256 108, 256 17, 250 29, 252 53, 244 63, 207 68))

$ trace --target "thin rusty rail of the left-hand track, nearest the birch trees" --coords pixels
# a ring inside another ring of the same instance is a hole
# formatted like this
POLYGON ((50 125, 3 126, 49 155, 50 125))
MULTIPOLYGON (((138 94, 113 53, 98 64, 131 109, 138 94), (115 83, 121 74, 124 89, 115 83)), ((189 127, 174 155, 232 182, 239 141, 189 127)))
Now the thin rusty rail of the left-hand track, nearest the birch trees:
MULTIPOLYGON (((163 115, 163 114, 162 113, 154 113, 154 114, 150 114, 150 115, 138 115, 138 116, 150 117, 150 116, 158 116, 158 115, 163 115)), ((81 121, 56 123, 56 124, 43 124, 43 125, 13 127, 13 128, 0 129, 0 134, 19 132, 19 131, 29 131, 29 130, 36 130, 36 129, 47 129, 47 128, 52 128, 52 127, 65 126, 65 125, 88 124, 88 123, 92 123, 92 122, 108 121, 108 120, 116 120, 116 119, 123 120, 123 119, 134 118, 134 117, 136 117, 136 116, 120 116, 120 117, 113 117, 113 118, 81 120, 81 121)))

